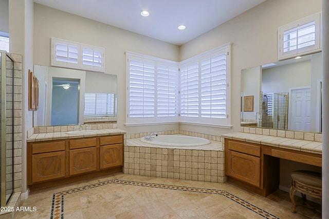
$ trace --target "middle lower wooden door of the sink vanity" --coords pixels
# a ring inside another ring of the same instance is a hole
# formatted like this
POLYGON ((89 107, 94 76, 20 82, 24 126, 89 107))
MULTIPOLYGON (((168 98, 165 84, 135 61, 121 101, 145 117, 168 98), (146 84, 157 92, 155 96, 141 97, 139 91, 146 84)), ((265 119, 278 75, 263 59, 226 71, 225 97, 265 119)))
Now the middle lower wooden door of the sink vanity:
POLYGON ((70 175, 97 169, 96 147, 70 150, 70 175))

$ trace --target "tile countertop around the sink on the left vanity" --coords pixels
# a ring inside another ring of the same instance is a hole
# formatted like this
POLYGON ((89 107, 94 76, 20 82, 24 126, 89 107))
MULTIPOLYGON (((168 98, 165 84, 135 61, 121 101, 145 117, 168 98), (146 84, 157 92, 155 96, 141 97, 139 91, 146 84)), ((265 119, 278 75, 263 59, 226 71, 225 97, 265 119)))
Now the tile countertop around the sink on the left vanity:
POLYGON ((48 132, 48 133, 33 134, 31 135, 31 137, 27 139, 27 142, 126 134, 126 131, 121 129, 101 129, 101 130, 92 130, 92 131, 95 132, 84 133, 84 134, 73 134, 73 135, 66 134, 66 132, 48 132))

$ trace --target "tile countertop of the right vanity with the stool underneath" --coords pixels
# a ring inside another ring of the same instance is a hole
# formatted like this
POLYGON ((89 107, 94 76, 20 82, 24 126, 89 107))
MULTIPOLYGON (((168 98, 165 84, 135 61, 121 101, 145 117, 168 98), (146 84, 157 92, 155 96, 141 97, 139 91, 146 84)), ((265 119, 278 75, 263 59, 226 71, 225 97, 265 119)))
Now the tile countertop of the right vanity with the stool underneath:
POLYGON ((313 154, 322 154, 322 142, 318 141, 307 141, 302 139, 283 138, 243 132, 223 134, 222 138, 241 140, 276 148, 290 149, 313 154))

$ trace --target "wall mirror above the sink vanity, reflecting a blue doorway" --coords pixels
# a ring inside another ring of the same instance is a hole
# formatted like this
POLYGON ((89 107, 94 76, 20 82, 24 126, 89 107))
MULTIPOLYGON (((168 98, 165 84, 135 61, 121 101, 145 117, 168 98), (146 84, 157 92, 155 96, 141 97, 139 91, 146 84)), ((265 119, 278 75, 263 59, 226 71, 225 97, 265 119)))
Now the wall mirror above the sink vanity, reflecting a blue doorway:
POLYGON ((101 72, 34 65, 39 108, 33 126, 117 120, 117 76, 101 72))

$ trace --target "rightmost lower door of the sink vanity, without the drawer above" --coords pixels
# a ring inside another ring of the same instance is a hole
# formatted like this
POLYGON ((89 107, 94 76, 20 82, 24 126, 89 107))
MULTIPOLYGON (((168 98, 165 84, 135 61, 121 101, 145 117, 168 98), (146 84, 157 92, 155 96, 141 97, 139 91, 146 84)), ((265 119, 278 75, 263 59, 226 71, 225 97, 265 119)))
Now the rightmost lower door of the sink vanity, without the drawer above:
POLYGON ((122 144, 104 145, 100 147, 100 168, 119 167, 123 165, 122 144))

